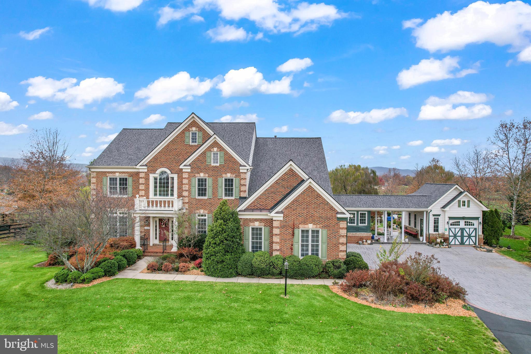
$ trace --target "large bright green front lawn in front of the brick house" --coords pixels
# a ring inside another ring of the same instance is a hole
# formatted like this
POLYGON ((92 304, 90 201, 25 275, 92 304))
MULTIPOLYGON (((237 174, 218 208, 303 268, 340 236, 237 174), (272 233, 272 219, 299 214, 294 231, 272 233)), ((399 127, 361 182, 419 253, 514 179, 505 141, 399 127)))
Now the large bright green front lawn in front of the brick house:
POLYGON ((57 334, 62 353, 492 353, 471 317, 390 312, 326 286, 116 279, 46 289, 35 247, 0 243, 0 333, 57 334))

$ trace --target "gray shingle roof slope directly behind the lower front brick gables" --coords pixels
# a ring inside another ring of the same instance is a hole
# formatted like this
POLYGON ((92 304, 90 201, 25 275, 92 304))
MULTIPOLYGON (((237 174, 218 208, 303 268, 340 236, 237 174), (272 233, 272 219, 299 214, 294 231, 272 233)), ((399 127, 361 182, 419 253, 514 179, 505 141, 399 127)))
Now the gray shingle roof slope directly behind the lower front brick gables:
POLYGON ((257 137, 248 194, 251 196, 289 160, 332 194, 320 137, 257 137))

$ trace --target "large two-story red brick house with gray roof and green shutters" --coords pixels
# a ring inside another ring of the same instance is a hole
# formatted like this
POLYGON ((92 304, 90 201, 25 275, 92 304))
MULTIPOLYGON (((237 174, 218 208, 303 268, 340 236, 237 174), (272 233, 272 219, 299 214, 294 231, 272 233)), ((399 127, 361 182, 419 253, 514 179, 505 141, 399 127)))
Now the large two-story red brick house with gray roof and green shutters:
POLYGON ((323 260, 371 238, 371 211, 406 210, 395 208, 397 196, 333 195, 320 138, 256 137, 254 123, 206 123, 193 113, 164 128, 122 129, 88 168, 93 191, 125 200, 117 235, 154 252, 177 250, 176 213, 193 214, 206 232, 222 199, 238 210, 247 251, 323 260))

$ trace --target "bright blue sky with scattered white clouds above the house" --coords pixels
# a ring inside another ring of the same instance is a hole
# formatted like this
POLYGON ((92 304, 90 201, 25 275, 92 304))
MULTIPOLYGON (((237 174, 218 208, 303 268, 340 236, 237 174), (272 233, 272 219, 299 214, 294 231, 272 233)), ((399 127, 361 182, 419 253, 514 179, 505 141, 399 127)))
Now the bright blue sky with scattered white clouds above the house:
POLYGON ((450 167, 528 116, 530 38, 519 1, 7 2, 0 156, 58 127, 85 163, 123 127, 193 111, 321 136, 329 168, 450 167))

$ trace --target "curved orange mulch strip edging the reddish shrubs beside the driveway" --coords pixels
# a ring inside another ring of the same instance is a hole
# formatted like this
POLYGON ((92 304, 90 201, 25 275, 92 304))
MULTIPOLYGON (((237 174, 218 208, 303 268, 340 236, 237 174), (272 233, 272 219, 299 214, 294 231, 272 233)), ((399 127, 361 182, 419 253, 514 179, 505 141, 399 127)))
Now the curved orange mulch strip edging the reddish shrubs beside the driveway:
POLYGON ((386 306, 380 304, 374 304, 370 301, 357 298, 355 296, 350 296, 343 292, 339 286, 331 285, 330 290, 337 293, 337 295, 342 296, 346 299, 355 301, 358 304, 368 305, 375 308, 381 308, 383 310, 395 311, 395 312, 408 312, 412 314, 435 314, 435 315, 451 315, 451 316, 468 316, 468 317, 477 317, 474 311, 465 310, 463 305, 465 301, 458 299, 448 299, 447 304, 434 304, 433 306, 424 307, 424 305, 413 305, 409 307, 395 307, 395 306, 386 306), (448 305, 448 306, 447 306, 448 305))

